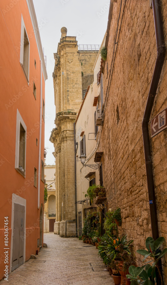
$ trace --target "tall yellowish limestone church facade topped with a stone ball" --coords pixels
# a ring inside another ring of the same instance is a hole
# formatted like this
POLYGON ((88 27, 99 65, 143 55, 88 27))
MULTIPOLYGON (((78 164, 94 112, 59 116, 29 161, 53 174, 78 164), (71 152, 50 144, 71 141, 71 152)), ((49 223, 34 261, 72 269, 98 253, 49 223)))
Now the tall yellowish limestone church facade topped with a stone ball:
POLYGON ((77 235, 74 123, 85 90, 93 82, 93 66, 98 49, 80 50, 75 36, 61 28, 54 54, 53 86, 56 106, 55 128, 50 141, 55 151, 56 222, 54 233, 61 237, 77 235))

